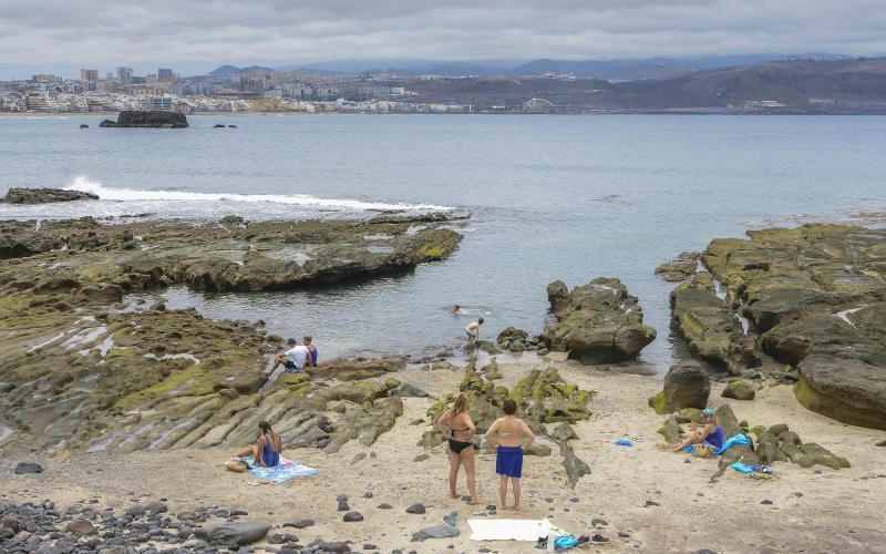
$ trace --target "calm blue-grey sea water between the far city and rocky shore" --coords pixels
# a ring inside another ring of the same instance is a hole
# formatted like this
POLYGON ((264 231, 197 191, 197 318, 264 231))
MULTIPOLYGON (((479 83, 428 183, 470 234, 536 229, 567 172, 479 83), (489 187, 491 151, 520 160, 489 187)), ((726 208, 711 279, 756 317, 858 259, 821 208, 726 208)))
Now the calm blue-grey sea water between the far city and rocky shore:
POLYGON ((486 337, 509 325, 537 332, 548 283, 608 276, 639 297, 659 331, 641 360, 664 372, 680 341, 669 329, 673 285, 655 277, 658 264, 749 228, 886 208, 877 116, 203 115, 183 131, 103 130, 101 119, 0 117, 0 193, 74 187, 103 198, 0 204, 0 218, 472 212, 452 257, 402 276, 293 293, 167 293, 172 307, 312 335, 323 357, 457 345, 481 315, 486 337), (453 317, 454 304, 468 314, 453 317))

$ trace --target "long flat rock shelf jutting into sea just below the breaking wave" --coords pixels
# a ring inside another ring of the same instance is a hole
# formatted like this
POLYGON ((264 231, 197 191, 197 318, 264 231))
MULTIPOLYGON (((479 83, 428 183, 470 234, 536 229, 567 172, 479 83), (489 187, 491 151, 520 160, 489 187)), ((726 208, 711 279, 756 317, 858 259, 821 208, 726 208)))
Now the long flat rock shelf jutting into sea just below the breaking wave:
POLYGON ((347 220, 101 225, 92 218, 3 222, 0 275, 30 287, 111 284, 140 291, 175 284, 258 291, 342 283, 409 270, 454 250, 452 229, 347 220), (49 285, 47 285, 49 286, 49 285))

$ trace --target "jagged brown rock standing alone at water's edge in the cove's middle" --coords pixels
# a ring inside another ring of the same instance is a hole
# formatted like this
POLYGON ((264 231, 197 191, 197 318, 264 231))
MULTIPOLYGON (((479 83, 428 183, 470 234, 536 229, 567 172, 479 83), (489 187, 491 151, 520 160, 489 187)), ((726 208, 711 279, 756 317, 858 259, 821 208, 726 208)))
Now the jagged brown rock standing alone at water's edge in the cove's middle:
POLYGON ((568 290, 563 281, 547 287, 557 322, 542 337, 552 351, 568 351, 581 363, 611 363, 636 358, 656 330, 643 325, 637 297, 618 279, 601 277, 568 290))

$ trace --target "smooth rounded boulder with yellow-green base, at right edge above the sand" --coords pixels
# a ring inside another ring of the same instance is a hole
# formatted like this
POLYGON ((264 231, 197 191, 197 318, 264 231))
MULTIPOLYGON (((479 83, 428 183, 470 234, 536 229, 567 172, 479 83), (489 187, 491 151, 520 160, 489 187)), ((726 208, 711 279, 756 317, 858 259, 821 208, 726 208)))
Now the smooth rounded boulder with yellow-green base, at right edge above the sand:
POLYGON ((886 430, 886 367, 812 356, 799 369, 800 403, 844 423, 886 430))

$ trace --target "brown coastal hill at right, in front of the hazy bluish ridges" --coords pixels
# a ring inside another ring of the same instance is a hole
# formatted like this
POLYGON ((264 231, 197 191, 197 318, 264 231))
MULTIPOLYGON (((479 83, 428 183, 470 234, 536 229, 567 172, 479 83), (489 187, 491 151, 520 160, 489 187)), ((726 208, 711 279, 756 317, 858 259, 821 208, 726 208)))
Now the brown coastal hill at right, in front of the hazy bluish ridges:
POLYGON ((602 79, 496 76, 412 81, 416 102, 519 110, 544 99, 553 111, 771 111, 885 113, 886 58, 780 60, 678 76, 602 79), (504 106, 504 107, 502 107, 504 106))

